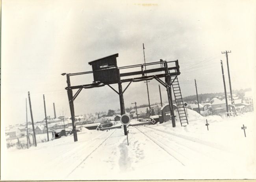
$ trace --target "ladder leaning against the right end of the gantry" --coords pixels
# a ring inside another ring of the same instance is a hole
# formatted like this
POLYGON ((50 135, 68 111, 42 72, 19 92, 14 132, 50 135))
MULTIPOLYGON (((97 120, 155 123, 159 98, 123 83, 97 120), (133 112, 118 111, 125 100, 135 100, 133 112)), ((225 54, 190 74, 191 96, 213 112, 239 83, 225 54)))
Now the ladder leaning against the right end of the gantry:
POLYGON ((181 126, 187 126, 188 125, 187 114, 186 114, 183 98, 180 91, 178 76, 177 75, 171 76, 171 82, 173 86, 173 94, 174 94, 175 102, 177 105, 178 114, 180 117, 180 124, 181 126))

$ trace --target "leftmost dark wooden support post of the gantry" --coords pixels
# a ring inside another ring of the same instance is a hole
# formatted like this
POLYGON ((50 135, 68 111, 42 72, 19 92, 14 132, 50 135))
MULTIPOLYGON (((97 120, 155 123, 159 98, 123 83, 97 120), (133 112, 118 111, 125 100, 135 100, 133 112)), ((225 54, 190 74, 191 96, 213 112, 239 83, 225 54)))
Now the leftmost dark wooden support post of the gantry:
POLYGON ((74 114, 74 100, 73 100, 73 92, 70 88, 70 78, 67 74, 67 93, 69 98, 69 107, 70 107, 70 114, 71 114, 71 120, 72 120, 72 131, 74 136, 74 142, 77 142, 77 133, 76 133, 76 125, 75 125, 75 114, 74 114))

